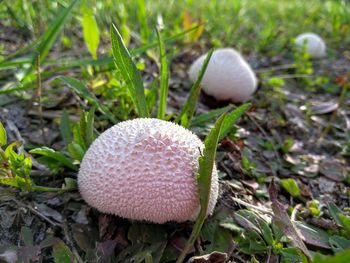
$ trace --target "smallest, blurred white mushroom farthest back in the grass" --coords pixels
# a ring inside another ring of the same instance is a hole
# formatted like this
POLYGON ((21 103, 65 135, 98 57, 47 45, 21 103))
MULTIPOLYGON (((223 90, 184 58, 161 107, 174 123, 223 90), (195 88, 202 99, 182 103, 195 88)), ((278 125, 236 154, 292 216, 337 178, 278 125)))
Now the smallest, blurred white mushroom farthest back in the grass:
POLYGON ((323 39, 314 33, 304 33, 295 39, 297 48, 306 45, 306 51, 312 58, 323 58, 326 56, 326 44, 323 39))

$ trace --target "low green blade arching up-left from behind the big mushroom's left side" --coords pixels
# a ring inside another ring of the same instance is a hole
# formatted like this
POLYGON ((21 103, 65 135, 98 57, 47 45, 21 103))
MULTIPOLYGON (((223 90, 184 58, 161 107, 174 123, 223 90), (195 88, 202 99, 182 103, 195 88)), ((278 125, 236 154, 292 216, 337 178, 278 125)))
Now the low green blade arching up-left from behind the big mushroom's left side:
POLYGON ((58 77, 60 81, 63 81, 76 92, 83 99, 86 99, 92 106, 98 109, 102 114, 106 115, 109 120, 115 122, 115 118, 112 113, 104 106, 100 104, 98 99, 88 90, 88 88, 79 80, 72 77, 58 77))

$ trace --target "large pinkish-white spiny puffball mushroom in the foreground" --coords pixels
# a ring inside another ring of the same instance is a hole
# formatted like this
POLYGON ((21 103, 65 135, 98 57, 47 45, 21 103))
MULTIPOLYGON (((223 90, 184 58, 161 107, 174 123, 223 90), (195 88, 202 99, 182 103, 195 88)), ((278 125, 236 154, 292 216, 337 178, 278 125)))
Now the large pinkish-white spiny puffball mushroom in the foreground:
MULTIPOLYGON (((196 175, 202 141, 159 119, 120 122, 86 152, 78 173, 84 200, 104 213, 154 223, 195 220, 200 210, 196 175)), ((214 166, 208 214, 218 197, 214 166)))

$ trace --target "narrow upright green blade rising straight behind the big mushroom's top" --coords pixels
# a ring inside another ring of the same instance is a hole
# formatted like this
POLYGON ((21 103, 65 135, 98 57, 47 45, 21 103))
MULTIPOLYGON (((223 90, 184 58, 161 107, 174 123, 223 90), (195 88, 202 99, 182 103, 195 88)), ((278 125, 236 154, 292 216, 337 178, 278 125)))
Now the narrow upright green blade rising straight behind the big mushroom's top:
POLYGON ((158 119, 164 119, 166 113, 166 100, 168 97, 168 82, 169 82, 169 66, 167 56, 165 54, 164 42, 160 32, 156 29, 158 44, 159 44, 159 57, 160 57, 160 94, 159 94, 159 106, 158 106, 158 119))

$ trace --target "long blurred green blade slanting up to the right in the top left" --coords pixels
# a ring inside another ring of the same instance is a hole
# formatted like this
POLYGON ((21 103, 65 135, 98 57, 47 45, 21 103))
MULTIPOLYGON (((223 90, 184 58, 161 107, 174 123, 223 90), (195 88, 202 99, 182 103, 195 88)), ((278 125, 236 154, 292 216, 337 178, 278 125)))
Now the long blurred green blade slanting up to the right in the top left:
MULTIPOLYGON (((74 0, 68 7, 63 8, 56 15, 56 19, 48 27, 48 30, 41 36, 36 53, 40 56, 41 63, 44 64, 45 58, 56 41, 58 33, 62 29, 64 22, 68 18, 68 15, 72 11, 73 7, 79 2, 79 0, 74 0)), ((27 73, 29 73, 33 66, 35 65, 36 55, 33 57, 32 66, 29 68, 27 73)))

